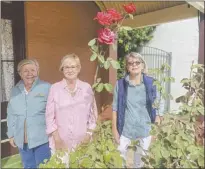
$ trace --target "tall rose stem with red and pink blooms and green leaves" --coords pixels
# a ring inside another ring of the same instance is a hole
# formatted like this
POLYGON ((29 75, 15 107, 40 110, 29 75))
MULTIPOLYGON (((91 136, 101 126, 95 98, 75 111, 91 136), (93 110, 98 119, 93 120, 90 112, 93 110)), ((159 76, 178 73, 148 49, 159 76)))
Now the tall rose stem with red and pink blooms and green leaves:
POLYGON ((112 91, 112 85, 109 83, 102 83, 101 78, 98 77, 99 68, 109 69, 110 66, 114 69, 120 68, 118 61, 106 56, 108 55, 107 49, 109 49, 110 45, 114 49, 116 48, 115 42, 117 40, 117 33, 119 30, 125 29, 125 27, 122 27, 124 19, 128 17, 133 19, 133 14, 136 12, 136 7, 133 3, 123 5, 123 8, 124 13, 120 13, 112 8, 98 12, 94 17, 94 20, 102 26, 97 32, 98 37, 92 39, 88 43, 92 51, 90 61, 97 61, 98 63, 93 84, 93 88, 97 92, 101 92, 103 89, 106 89, 108 92, 112 91))

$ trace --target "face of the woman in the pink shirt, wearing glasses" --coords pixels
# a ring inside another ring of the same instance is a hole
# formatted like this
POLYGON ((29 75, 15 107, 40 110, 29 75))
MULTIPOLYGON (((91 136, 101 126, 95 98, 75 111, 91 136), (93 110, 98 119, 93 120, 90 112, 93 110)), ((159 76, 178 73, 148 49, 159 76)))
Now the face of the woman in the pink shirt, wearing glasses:
POLYGON ((80 73, 80 67, 75 59, 66 59, 63 65, 64 77, 68 80, 75 80, 80 73))

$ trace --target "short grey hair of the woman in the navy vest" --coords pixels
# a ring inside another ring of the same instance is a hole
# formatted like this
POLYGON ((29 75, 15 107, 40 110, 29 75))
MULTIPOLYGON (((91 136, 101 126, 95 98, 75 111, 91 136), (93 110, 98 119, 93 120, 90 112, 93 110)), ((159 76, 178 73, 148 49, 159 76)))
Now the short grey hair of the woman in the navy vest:
POLYGON ((129 53, 129 54, 127 54, 127 55, 125 56, 126 74, 128 74, 127 65, 128 65, 128 59, 129 59, 130 57, 139 59, 139 60, 143 63, 143 65, 144 65, 144 69, 143 69, 142 72, 145 73, 145 74, 148 73, 147 63, 146 63, 146 61, 143 59, 142 55, 139 54, 139 53, 137 53, 137 52, 131 52, 131 53, 129 53))

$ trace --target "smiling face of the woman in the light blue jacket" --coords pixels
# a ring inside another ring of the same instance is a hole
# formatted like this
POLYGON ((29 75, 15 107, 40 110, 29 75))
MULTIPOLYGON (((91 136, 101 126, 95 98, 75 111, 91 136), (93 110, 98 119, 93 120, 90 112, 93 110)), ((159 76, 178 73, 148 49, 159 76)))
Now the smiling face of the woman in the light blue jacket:
POLYGON ((38 68, 34 64, 26 64, 21 67, 19 74, 24 84, 32 85, 38 76, 38 68))

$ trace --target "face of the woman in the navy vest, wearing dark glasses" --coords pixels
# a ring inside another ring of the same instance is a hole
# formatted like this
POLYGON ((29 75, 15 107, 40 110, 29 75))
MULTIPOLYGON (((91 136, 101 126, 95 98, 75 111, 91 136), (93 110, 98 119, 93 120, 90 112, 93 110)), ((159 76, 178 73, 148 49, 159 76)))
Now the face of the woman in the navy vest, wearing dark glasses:
POLYGON ((138 58, 129 57, 127 60, 127 70, 131 75, 142 73, 144 63, 138 58))

